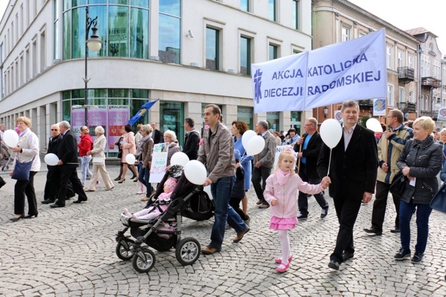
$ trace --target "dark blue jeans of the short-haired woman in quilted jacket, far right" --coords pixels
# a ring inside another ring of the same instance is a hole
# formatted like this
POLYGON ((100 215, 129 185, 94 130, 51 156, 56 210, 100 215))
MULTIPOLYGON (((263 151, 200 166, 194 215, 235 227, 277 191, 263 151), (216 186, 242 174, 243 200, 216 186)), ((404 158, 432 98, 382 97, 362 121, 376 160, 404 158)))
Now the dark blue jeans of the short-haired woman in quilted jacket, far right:
POLYGON ((414 204, 412 201, 399 202, 399 230, 401 230, 401 248, 410 250, 410 219, 416 207, 416 252, 424 254, 429 235, 429 217, 432 209, 429 204, 414 204))

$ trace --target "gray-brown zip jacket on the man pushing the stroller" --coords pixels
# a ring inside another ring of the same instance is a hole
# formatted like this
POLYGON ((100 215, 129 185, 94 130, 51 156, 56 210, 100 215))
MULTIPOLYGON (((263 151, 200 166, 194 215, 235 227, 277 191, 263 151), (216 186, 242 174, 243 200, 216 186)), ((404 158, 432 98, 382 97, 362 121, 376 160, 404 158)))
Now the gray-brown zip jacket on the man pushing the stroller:
POLYGON ((197 160, 206 165, 212 182, 235 174, 234 141, 231 132, 222 123, 203 132, 203 145, 197 160))

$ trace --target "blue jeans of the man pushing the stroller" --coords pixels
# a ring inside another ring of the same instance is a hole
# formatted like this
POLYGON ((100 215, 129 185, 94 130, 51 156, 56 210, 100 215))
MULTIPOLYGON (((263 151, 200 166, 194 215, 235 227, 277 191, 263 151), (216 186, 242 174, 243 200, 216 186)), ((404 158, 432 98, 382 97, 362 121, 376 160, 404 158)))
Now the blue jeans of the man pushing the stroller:
POLYGON ((229 205, 229 199, 233 191, 233 176, 219 178, 211 184, 211 193, 215 204, 214 218, 211 233, 211 247, 221 250, 226 222, 233 227, 235 232, 242 233, 246 230, 246 224, 242 218, 229 205))

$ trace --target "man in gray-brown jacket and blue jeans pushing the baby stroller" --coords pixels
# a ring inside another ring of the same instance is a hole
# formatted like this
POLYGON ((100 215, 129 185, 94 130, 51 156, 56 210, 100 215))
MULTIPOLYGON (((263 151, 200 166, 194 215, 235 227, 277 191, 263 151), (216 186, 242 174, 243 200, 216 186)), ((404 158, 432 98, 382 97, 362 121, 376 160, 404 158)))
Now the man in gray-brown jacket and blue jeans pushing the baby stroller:
POLYGON ((214 223, 212 226, 211 243, 202 249, 203 254, 213 254, 222 250, 226 221, 233 227, 237 243, 249 231, 249 227, 229 205, 233 190, 235 174, 234 141, 231 132, 220 123, 222 111, 215 104, 204 108, 204 121, 209 129, 203 133, 203 146, 198 152, 198 161, 206 164, 209 176, 203 187, 211 185, 211 193, 215 204, 214 223))

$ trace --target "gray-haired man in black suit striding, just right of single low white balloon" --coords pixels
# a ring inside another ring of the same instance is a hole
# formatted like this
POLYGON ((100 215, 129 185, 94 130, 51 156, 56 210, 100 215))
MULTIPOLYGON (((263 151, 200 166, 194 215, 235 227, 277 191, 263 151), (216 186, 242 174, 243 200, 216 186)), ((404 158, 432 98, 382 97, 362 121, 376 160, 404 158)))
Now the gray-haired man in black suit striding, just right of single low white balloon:
POLYGON ((78 194, 78 200, 74 203, 80 203, 87 200, 82 183, 78 178, 77 167, 78 161, 78 141, 76 141, 75 135, 70 130, 70 123, 67 121, 61 121, 59 123, 60 134, 62 140, 58 147, 58 157, 60 166, 60 183, 58 189, 58 200, 55 204, 51 205, 51 208, 64 207, 65 197, 67 197, 68 182, 71 182, 75 193, 78 194))

